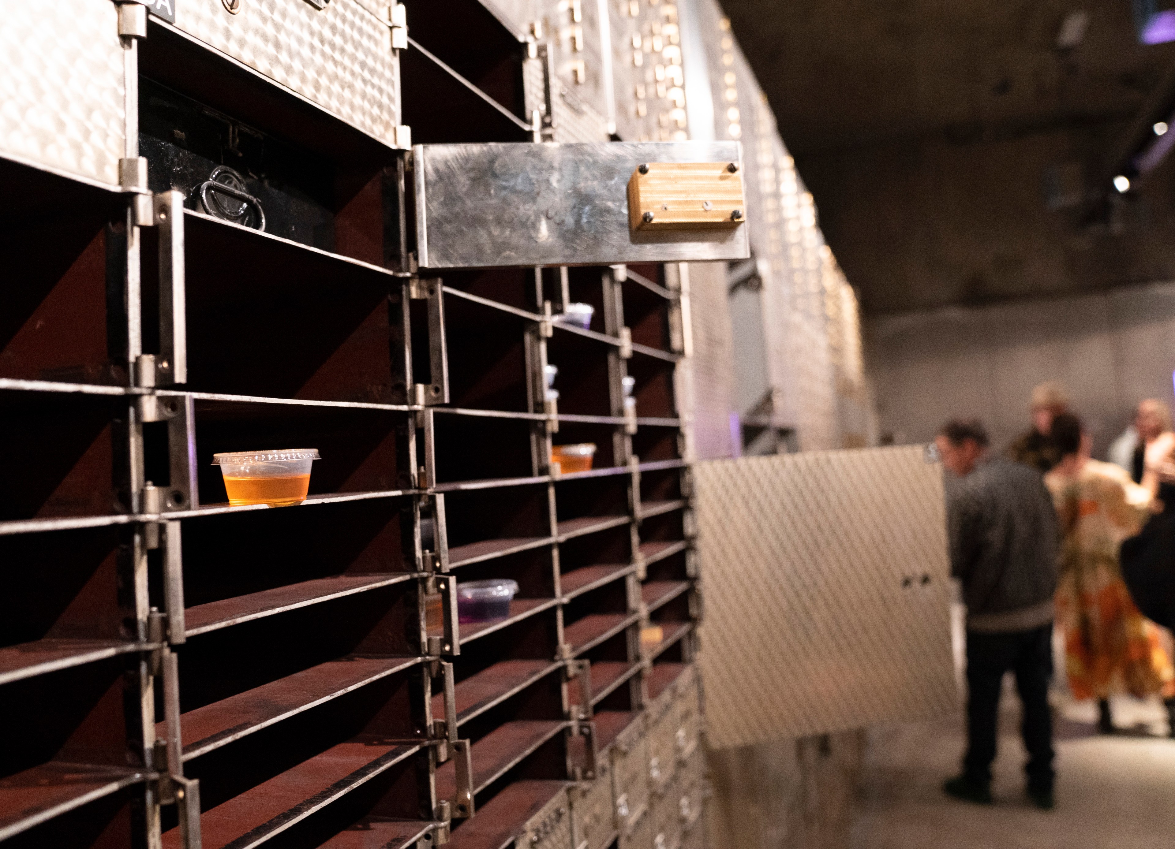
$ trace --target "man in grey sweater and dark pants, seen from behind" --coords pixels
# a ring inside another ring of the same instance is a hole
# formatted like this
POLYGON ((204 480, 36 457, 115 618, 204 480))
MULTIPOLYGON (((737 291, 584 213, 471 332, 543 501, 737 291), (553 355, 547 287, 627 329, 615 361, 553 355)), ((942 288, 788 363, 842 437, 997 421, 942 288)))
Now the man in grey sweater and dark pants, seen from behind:
POLYGON ((987 450, 975 420, 948 422, 936 438, 947 481, 951 571, 967 604, 967 754, 944 784, 969 802, 992 802, 996 716, 1003 673, 1023 706, 1028 796, 1053 807, 1053 593, 1060 530, 1040 472, 987 450))

